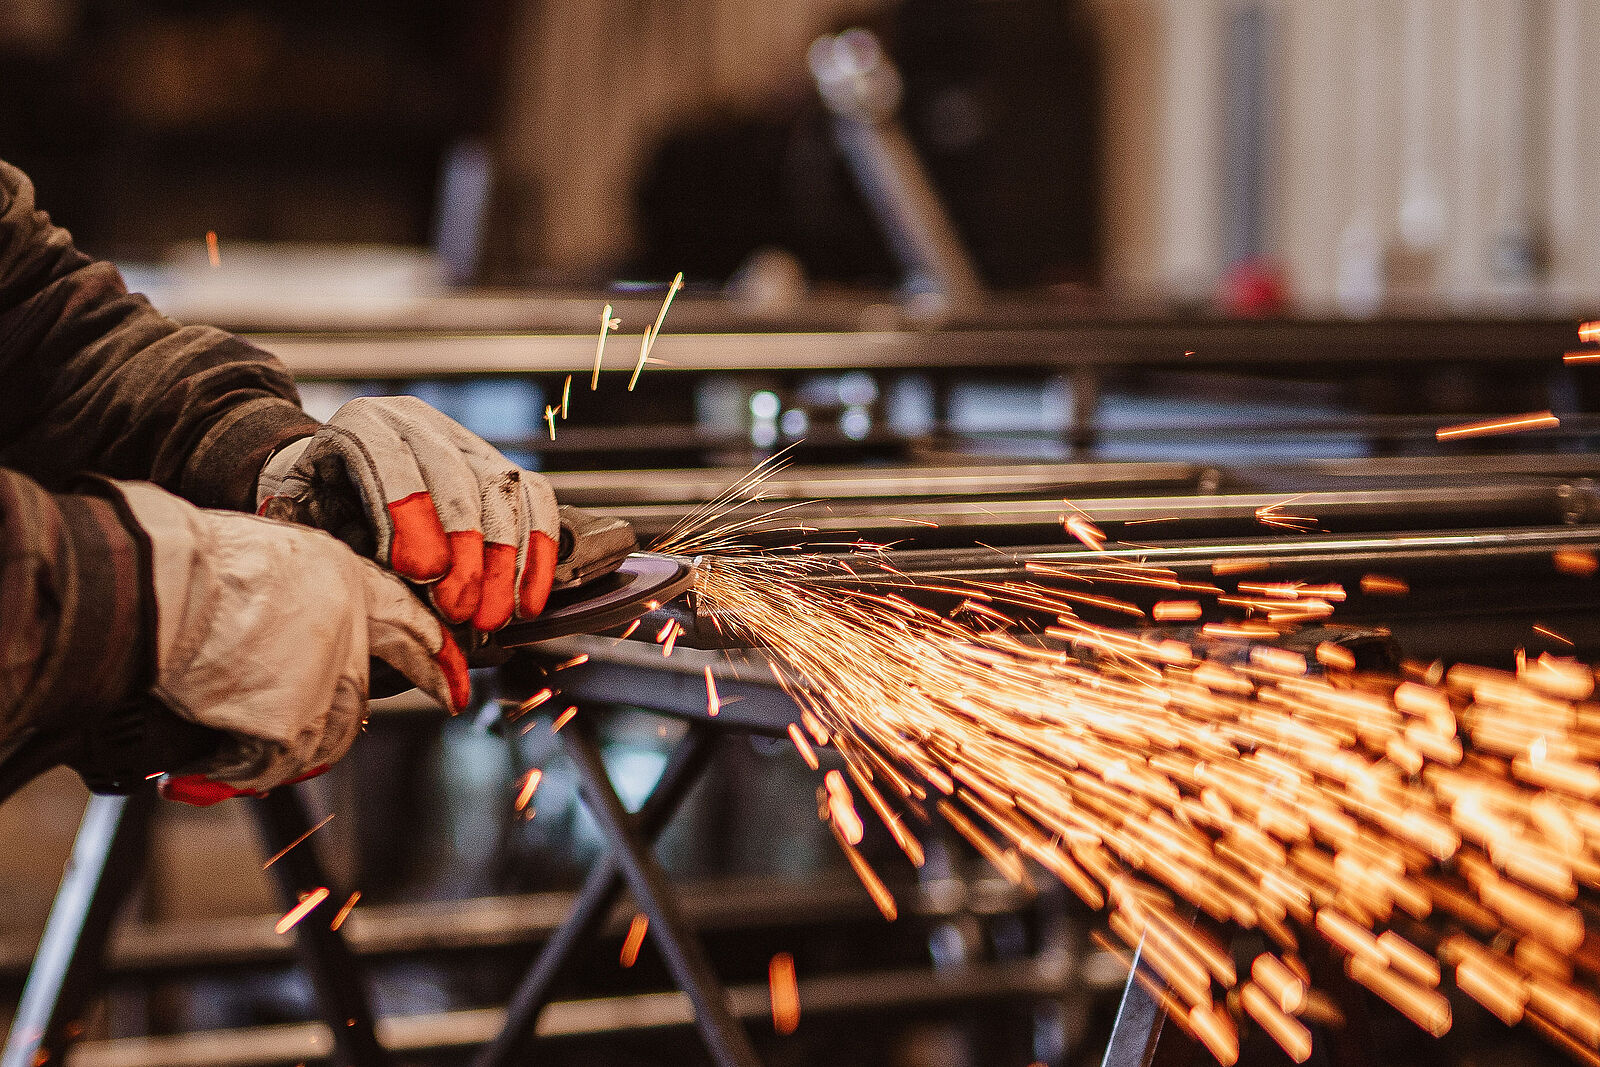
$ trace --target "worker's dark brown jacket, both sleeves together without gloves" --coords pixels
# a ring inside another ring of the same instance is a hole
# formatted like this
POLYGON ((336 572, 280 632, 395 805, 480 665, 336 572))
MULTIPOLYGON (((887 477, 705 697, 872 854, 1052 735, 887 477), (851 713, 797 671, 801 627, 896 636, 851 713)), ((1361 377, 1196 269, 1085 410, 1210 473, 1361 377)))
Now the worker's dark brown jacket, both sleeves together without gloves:
POLYGON ((272 355, 130 294, 0 162, 0 755, 150 681, 149 547, 83 475, 248 510, 315 429, 272 355))

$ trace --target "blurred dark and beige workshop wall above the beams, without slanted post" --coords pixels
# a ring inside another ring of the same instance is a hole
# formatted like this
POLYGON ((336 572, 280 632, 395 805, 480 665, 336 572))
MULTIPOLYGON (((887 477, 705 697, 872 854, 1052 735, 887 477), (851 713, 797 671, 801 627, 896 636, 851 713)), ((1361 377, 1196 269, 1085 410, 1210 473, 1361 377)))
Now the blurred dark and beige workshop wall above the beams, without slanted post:
POLYGON ((763 251, 885 285, 806 69, 848 26, 989 286, 1373 315, 1600 278, 1584 0, 8 0, 0 146, 126 262, 216 230, 430 248, 453 285, 763 251))

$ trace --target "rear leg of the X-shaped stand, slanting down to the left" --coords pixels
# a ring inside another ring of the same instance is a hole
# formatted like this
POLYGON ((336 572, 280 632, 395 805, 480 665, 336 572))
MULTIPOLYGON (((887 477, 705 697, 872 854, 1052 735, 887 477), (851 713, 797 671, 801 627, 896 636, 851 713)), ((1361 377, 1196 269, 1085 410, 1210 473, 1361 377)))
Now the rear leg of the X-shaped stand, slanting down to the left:
MULTIPOLYGON (((683 797, 699 779, 715 750, 717 737, 715 729, 691 725, 688 736, 674 749, 656 787, 630 819, 643 848, 654 845, 683 797)), ((562 966, 578 945, 598 933, 621 894, 622 872, 618 869, 616 857, 606 853, 584 880, 584 888, 578 893, 578 901, 566 920, 544 942, 533 968, 512 993, 506 1008, 506 1025, 493 1041, 478 1051, 472 1067, 506 1067, 512 1062, 522 1062, 528 1056, 539 1013, 550 1001, 550 992, 562 966)))

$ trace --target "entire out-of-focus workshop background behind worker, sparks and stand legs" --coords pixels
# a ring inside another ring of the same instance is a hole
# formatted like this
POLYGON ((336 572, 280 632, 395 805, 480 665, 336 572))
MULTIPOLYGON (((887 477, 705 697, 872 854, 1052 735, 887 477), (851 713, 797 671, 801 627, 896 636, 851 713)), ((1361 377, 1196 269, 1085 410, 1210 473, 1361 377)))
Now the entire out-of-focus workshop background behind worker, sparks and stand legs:
MULTIPOLYGON (((1059 547, 1062 499, 1176 523, 1128 531, 1152 541, 1302 498, 1334 531, 1560 526, 1600 517, 1594 389, 1560 358, 1600 304, 1597 46, 1590 0, 0 0, 0 158, 160 309, 280 354, 314 414, 421 395, 646 541, 782 446, 774 499, 939 550, 1059 547), (661 363, 590 395, 600 309, 626 370, 677 272, 661 363), (1528 410, 1562 427, 1435 437, 1528 410)), ((1414 627, 1416 656, 1467 648, 1414 627)), ((451 723, 376 715, 307 790, 384 1014, 504 1003, 600 848, 549 731, 485 729, 499 685, 451 723)), ((613 709, 624 800, 682 729, 613 709)), ((786 745, 725 747, 661 849, 730 982, 779 949, 802 979, 877 968, 763 1056, 1099 1062, 1123 976, 1083 910, 933 832, 923 872, 869 838, 907 901, 882 923, 786 745)), ((11 995, 83 803, 54 774, 0 808, 11 995)), ((315 1016, 259 851, 242 806, 160 809, 77 1062, 299 1062, 131 1043, 315 1016)), ((544 1062, 704 1062, 637 1021, 667 976, 618 968, 626 920, 562 987, 618 998, 613 1029, 544 1062)), ((1426 1048, 1392 1022, 1394 1062, 1547 1056, 1470 1006, 1426 1048)), ((438 1025, 403 1062, 467 1062, 438 1025)))

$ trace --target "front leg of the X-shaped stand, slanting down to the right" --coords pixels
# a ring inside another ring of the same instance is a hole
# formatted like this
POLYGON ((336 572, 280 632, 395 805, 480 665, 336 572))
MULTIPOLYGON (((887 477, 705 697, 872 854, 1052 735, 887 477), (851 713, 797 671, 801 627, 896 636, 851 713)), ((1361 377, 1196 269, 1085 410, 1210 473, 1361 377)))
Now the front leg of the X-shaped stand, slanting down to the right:
POLYGON ((650 917, 651 941, 678 989, 688 993, 690 1003, 694 1005, 694 1022, 712 1059, 720 1067, 757 1067, 760 1061, 755 1057, 755 1049, 728 1009, 728 993, 710 969, 699 941, 683 921, 666 875, 654 857, 640 846, 629 825, 629 814, 611 787, 605 763, 600 760, 600 749, 589 736, 587 725, 574 721, 560 737, 578 768, 589 813, 605 833, 634 899, 650 917))

